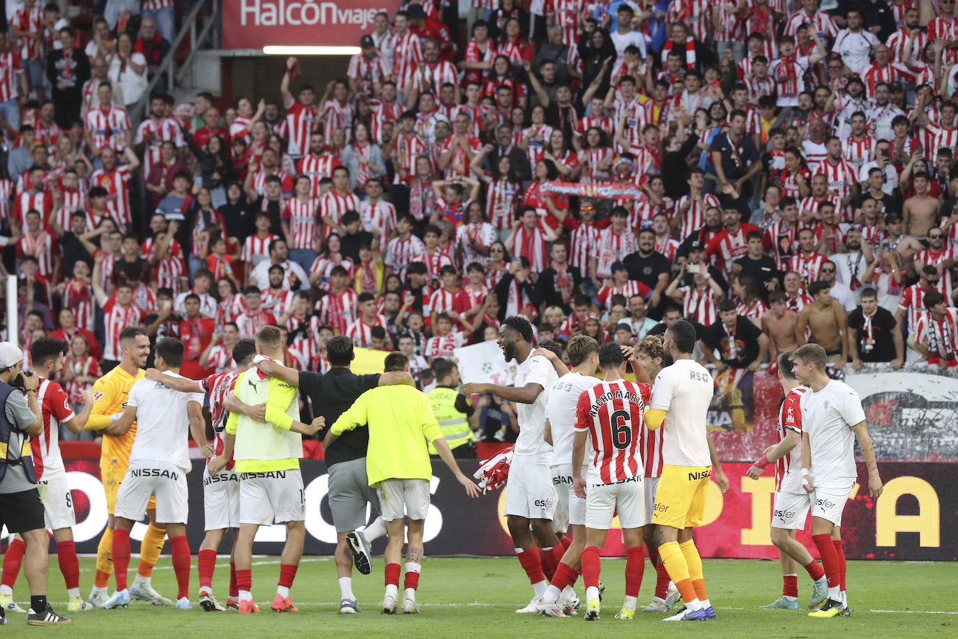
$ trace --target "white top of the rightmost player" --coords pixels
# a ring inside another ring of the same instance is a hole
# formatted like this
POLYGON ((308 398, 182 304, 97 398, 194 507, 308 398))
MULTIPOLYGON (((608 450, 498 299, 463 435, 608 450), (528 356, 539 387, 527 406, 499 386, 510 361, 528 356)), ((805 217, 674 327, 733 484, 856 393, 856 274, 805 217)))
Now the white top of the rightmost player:
MULTIPOLYGON (((830 380, 815 393, 802 396, 802 428, 809 434, 812 479, 816 486, 832 480, 855 479, 855 433, 852 426, 865 421, 865 411, 855 389, 830 380)), ((808 465, 809 460, 804 460, 808 465)))

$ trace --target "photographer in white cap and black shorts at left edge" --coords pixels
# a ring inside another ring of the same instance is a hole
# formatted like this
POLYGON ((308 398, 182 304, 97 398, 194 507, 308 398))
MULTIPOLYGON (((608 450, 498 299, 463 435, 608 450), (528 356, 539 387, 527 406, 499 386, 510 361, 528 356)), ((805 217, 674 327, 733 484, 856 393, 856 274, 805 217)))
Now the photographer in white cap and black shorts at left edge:
MULTIPOLYGON (((58 615, 47 603, 48 544, 43 502, 36 490, 30 437, 43 430, 43 418, 36 400, 40 379, 21 373, 23 351, 11 342, 0 342, 0 526, 19 533, 27 544, 27 582, 30 584, 28 626, 57 626, 70 620, 58 615)), ((0 626, 7 624, 0 610, 0 626)))

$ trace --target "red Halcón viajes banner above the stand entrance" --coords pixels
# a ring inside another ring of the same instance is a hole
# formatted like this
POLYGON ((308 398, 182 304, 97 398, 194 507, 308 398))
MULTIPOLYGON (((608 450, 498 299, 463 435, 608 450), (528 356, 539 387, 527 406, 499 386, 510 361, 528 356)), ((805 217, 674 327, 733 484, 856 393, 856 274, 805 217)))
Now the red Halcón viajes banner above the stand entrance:
POLYGON ((399 0, 223 0, 223 49, 283 46, 359 46, 379 11, 399 0))

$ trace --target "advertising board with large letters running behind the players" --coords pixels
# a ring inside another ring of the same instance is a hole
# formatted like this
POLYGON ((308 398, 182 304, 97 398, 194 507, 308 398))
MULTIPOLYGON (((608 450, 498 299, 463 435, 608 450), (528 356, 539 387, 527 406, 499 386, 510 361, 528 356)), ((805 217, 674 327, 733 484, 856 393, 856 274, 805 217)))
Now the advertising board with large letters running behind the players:
MULTIPOLYGON (((74 537, 81 553, 96 553, 106 525, 106 501, 100 481, 99 458, 66 460, 67 477, 73 489, 77 526, 74 537)), ((190 521, 187 536, 194 551, 203 538, 202 466, 194 461, 187 475, 190 490, 190 521)), ((464 463, 471 473, 477 465, 464 463)), ((769 540, 774 478, 772 469, 757 481, 745 472, 749 464, 724 464, 730 489, 719 492, 713 482, 706 503, 704 525, 696 531, 696 545, 703 557, 731 559, 776 559, 769 540)), ((859 485, 842 518, 842 538, 849 559, 958 559, 958 464, 883 463, 879 466, 885 490, 878 501, 868 496, 864 466, 859 465, 859 485)), ((327 495, 326 466, 322 461, 302 463, 306 498, 306 548, 308 555, 331 555, 336 533, 327 495)), ((442 463, 433 466, 430 484, 432 504, 425 522, 425 551, 429 555, 512 555, 513 544, 502 516, 505 498, 498 491, 469 500, 442 463)), ((508 490, 508 487, 507 489, 508 490)), ((375 516, 371 514, 371 516, 375 516)), ((625 554, 618 521, 610 531, 604 554, 625 554)), ((807 524, 808 528, 808 524, 807 524)), ((142 538, 146 526, 138 523, 131 533, 142 538)), ((798 537, 814 555, 809 531, 798 537)), ((9 540, 9 539, 7 539, 9 540)), ((262 527, 254 552, 279 554, 285 541, 285 526, 262 527)), ((376 542, 380 553, 384 542, 376 542)), ((224 542, 221 549, 229 552, 224 542)), ((135 548, 134 548, 135 551, 135 548)))

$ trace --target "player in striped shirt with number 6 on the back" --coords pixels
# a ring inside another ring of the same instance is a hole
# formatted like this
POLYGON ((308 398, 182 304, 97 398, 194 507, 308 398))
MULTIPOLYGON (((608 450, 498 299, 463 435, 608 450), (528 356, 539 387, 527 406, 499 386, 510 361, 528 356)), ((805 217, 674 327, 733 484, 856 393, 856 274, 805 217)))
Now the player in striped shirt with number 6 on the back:
MULTIPOLYGON (((647 516, 641 441, 645 428, 642 411, 651 390, 648 383, 625 380, 627 360, 618 344, 600 347, 599 363, 604 381, 580 396, 572 444, 573 486, 586 503, 582 550, 586 620, 599 618, 599 552, 615 514, 627 553, 626 599, 619 616, 634 614, 645 570, 642 533, 647 516), (588 463, 585 477, 583 462, 588 463)), ((644 373, 641 367, 636 369, 636 374, 644 373)))

